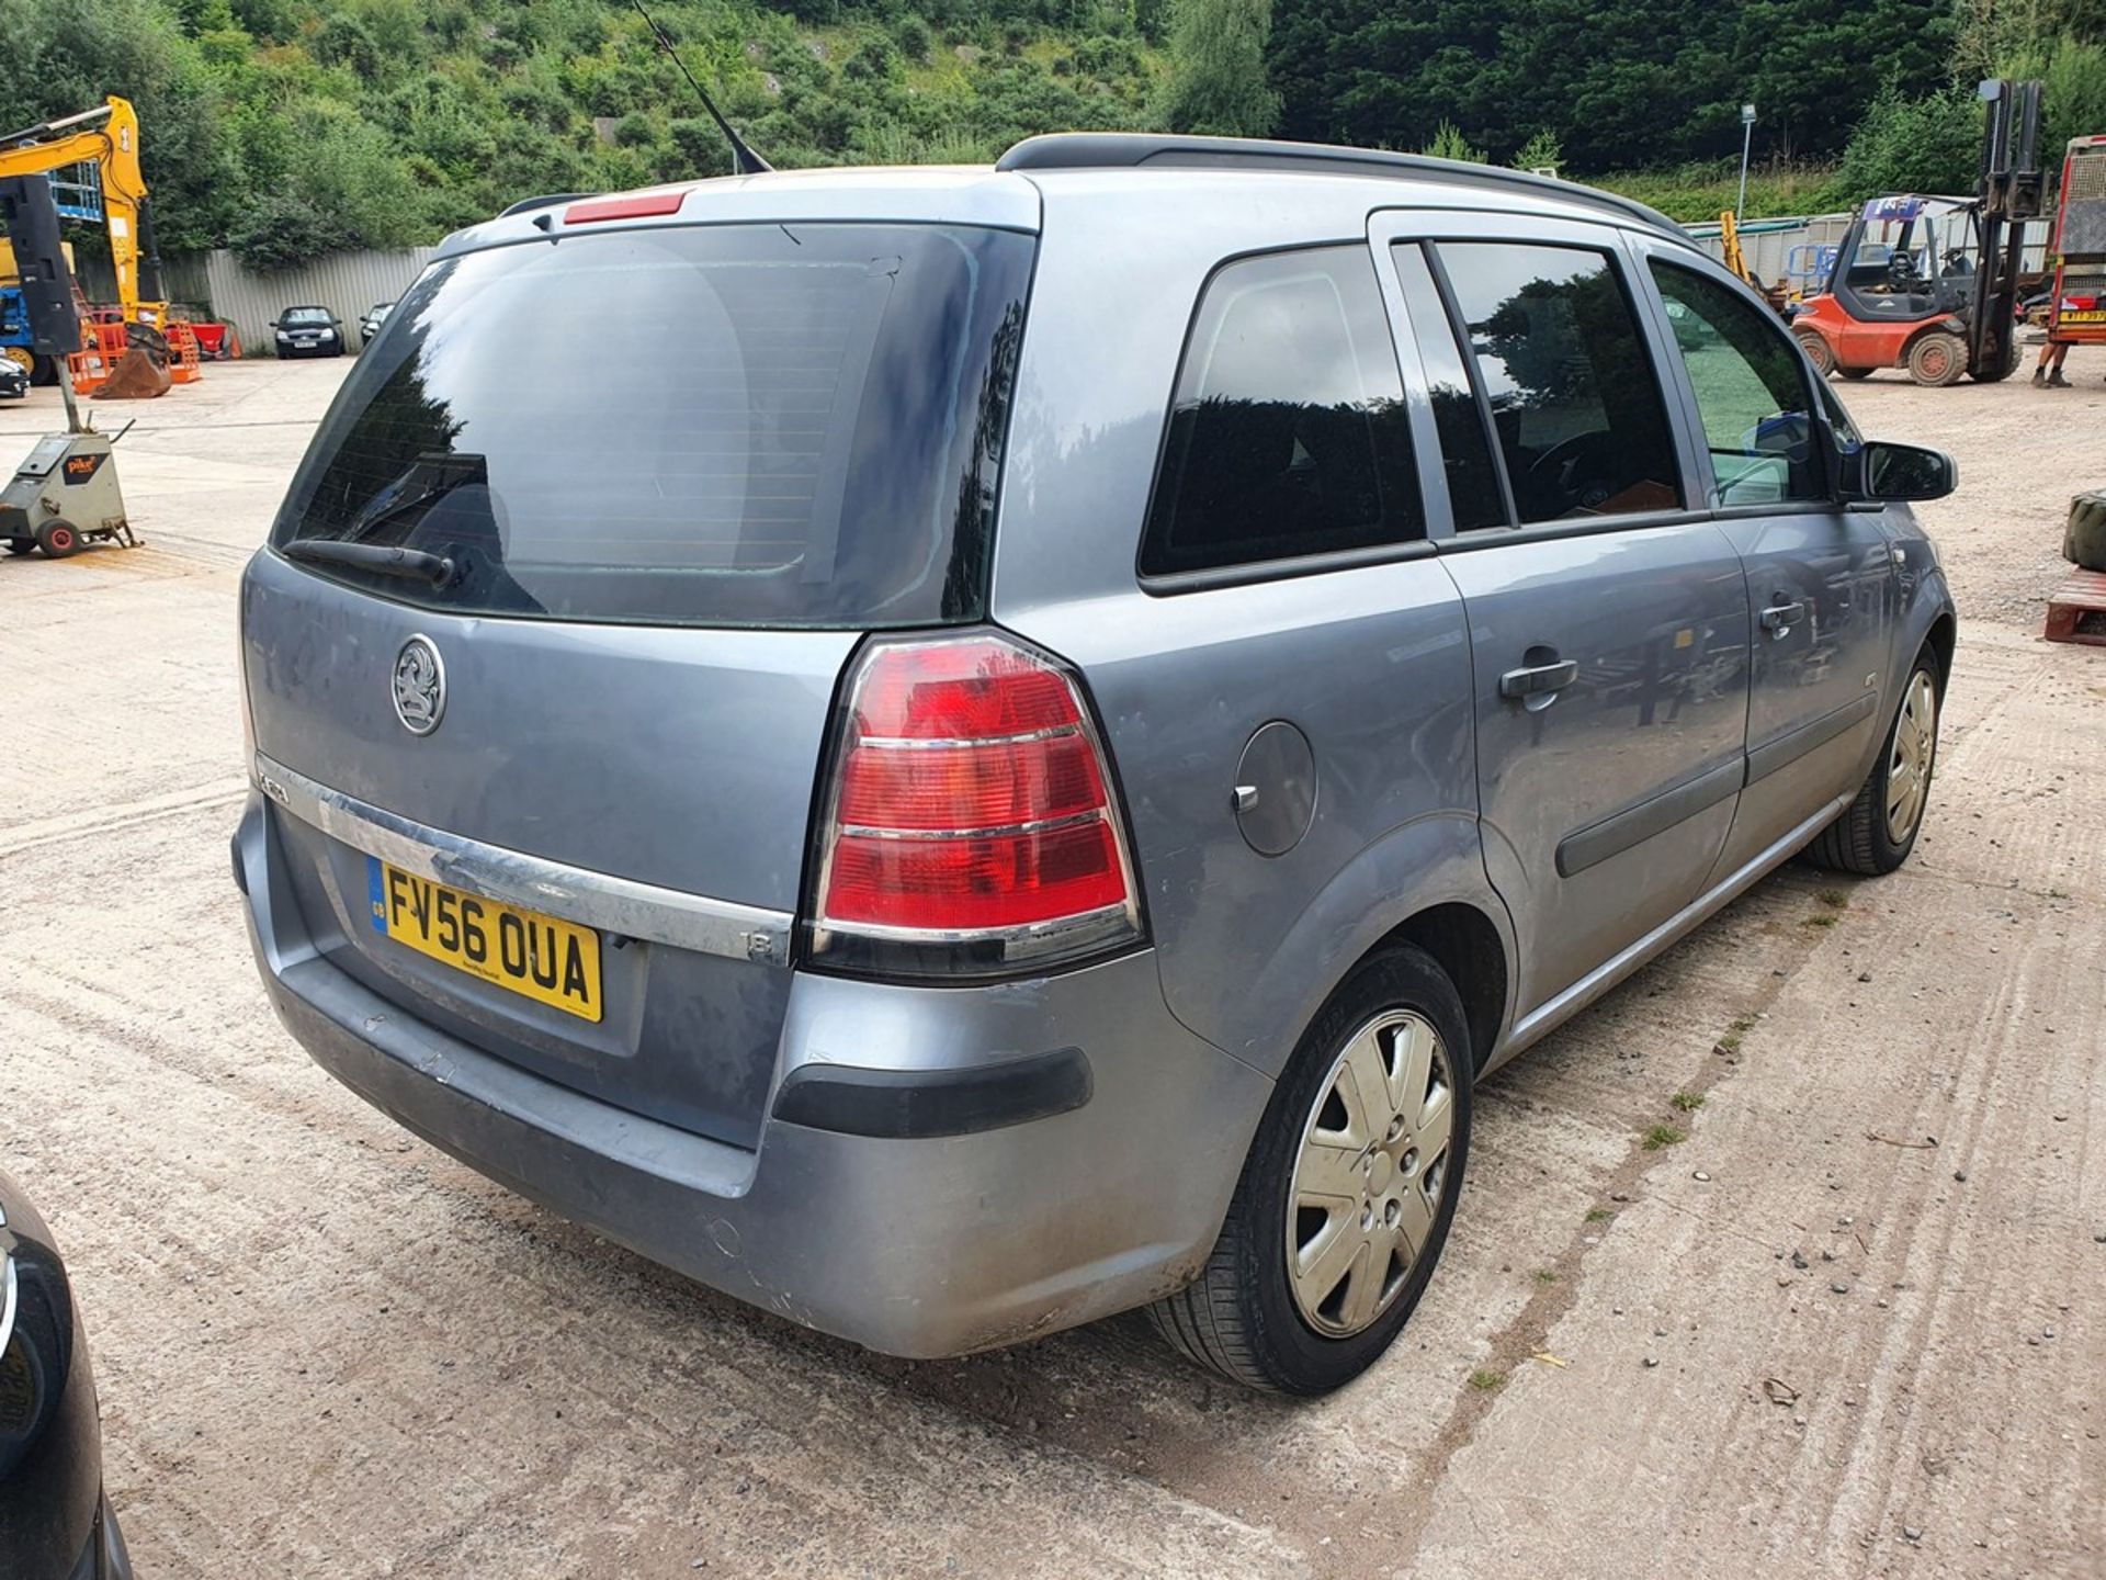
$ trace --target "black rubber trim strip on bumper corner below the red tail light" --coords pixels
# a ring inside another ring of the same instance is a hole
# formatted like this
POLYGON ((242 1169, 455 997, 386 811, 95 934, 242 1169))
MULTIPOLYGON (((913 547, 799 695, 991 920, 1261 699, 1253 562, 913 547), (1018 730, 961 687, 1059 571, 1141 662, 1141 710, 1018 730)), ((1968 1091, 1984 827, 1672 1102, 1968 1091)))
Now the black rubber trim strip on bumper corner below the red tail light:
POLYGON ((906 1142, 1051 1119, 1080 1108, 1089 1095, 1089 1058, 1078 1047, 960 1070, 800 1064, 775 1093, 775 1119, 906 1142))

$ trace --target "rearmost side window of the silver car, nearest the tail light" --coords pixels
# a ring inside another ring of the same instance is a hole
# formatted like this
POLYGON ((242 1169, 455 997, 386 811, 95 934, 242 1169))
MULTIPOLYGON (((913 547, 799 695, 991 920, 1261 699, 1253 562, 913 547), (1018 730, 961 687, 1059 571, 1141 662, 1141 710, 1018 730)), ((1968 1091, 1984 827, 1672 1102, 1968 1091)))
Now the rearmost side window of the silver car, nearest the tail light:
POLYGON ((1426 535, 1396 348, 1360 246, 1268 253, 1200 297, 1141 575, 1426 535))

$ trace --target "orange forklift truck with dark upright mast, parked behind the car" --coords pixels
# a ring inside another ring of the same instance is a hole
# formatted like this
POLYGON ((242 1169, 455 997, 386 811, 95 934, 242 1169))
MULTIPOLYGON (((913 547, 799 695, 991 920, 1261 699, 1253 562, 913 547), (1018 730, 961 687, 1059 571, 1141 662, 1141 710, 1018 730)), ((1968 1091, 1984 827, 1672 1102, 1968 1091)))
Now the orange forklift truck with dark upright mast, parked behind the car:
POLYGON ((1792 316, 1822 373, 1906 367, 1916 383, 2018 369, 2024 221, 2041 213, 2041 84, 1982 84, 1988 124, 1973 198, 1872 198, 1836 246, 1828 289, 1792 316))

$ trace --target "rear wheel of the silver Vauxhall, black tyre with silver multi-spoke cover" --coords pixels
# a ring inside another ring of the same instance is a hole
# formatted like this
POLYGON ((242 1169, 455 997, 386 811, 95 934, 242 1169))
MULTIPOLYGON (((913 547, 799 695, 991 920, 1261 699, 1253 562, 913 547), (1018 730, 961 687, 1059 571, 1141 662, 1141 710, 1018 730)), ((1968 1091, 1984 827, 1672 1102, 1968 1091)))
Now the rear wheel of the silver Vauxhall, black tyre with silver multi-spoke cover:
POLYGON ((1462 996, 1430 954, 1398 944, 1354 967, 1274 1087, 1207 1266, 1148 1308, 1156 1331, 1253 1388, 1320 1395, 1365 1371, 1417 1306, 1455 1218, 1470 1047, 1462 996), (1363 1081, 1375 1100, 1348 1102, 1363 1081), (1327 1289, 1339 1256, 1348 1270, 1327 1289))

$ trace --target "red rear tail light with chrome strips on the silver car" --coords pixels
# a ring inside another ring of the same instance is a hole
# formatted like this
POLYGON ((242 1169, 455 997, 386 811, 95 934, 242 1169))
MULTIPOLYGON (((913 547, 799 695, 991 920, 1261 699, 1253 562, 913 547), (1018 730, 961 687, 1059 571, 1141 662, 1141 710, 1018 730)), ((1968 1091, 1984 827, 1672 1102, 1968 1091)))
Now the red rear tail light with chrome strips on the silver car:
POLYGON ((1139 940, 1104 744, 1064 668, 990 634, 878 643, 840 729, 815 956, 975 975, 1139 940))

